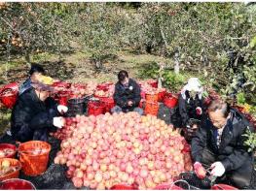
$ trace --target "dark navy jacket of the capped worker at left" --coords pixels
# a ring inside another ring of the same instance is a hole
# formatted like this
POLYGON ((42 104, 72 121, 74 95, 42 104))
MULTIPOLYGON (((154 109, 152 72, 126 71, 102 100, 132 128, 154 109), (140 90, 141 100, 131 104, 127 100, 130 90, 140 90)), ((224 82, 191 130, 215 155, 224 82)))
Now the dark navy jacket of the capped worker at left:
POLYGON ((52 98, 42 102, 33 87, 24 91, 12 111, 11 131, 14 139, 20 142, 47 141, 48 132, 55 131, 53 118, 59 114, 56 107, 52 98))

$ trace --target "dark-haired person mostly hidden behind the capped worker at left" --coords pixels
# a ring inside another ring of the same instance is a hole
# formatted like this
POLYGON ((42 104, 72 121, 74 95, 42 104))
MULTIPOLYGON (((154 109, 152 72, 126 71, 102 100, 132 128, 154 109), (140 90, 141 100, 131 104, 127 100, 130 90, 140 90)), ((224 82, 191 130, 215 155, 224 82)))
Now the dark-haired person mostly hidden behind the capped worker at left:
POLYGON ((42 75, 45 75, 45 70, 39 64, 32 64, 28 74, 29 78, 19 86, 18 95, 21 95, 24 91, 30 89, 32 87, 32 82, 36 82, 42 75))

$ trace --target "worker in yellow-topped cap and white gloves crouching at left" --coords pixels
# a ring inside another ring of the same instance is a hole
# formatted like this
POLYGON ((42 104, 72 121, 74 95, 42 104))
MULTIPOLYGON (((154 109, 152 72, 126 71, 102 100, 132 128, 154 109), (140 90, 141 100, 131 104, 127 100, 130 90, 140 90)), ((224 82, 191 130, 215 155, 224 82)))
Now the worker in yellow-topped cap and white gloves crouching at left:
POLYGON ((11 132, 18 142, 31 140, 48 141, 49 132, 62 128, 64 118, 59 116, 67 111, 65 106, 57 106, 50 97, 53 87, 49 77, 41 77, 31 83, 31 88, 24 91, 12 111, 11 132))

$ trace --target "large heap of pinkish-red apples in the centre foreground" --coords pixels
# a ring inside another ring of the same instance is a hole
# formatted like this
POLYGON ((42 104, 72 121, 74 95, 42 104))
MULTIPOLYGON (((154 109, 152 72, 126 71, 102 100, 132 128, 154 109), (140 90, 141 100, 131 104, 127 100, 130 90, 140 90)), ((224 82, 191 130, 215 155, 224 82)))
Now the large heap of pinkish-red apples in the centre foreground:
POLYGON ((154 189, 192 170, 184 138, 154 115, 77 115, 60 131, 55 164, 68 167, 66 175, 78 188, 137 183, 139 189, 154 189))

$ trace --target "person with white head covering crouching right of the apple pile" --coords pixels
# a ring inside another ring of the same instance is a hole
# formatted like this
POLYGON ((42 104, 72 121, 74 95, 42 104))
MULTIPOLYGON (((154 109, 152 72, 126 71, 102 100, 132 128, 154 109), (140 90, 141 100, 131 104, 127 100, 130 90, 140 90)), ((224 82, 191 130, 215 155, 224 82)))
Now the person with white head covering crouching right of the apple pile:
POLYGON ((176 111, 178 112, 176 113, 178 122, 173 122, 173 125, 183 128, 182 134, 188 142, 191 141, 201 123, 204 112, 202 92, 201 81, 198 78, 191 78, 182 88, 178 98, 178 109, 176 111))

